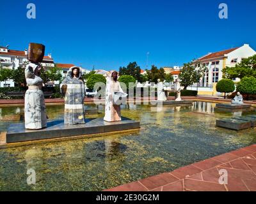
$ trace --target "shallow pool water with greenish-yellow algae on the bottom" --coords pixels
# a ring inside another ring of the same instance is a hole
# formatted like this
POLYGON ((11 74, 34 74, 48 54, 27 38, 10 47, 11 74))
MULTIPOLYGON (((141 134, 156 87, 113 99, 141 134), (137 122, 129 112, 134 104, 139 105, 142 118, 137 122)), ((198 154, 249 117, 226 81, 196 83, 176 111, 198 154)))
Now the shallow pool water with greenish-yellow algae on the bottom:
MULTIPOLYGON (((164 106, 161 112, 150 112, 147 105, 122 106, 122 115, 141 121, 140 131, 2 149, 0 190, 101 191, 256 143, 255 128, 216 128, 217 118, 233 113, 214 112, 214 106, 195 102, 190 107, 164 106), (36 172, 31 186, 26 182, 29 168, 36 172)), ((2 108, 1 113, 17 111, 2 108)), ((243 114, 250 113, 255 114, 243 114)), ((61 119, 63 106, 47 106, 47 114, 61 119)), ((0 122, 0 128, 6 131, 8 124, 0 122)))

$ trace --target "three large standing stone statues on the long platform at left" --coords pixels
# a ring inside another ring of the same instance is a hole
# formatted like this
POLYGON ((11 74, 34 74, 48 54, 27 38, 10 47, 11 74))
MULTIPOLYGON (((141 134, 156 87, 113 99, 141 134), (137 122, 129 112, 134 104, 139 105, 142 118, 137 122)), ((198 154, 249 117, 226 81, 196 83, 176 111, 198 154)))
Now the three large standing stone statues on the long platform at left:
MULTIPOLYGON (((29 44, 28 59, 30 63, 25 69, 25 77, 28 84, 24 111, 26 129, 42 129, 47 127, 44 92, 42 92, 43 80, 40 78, 41 66, 39 64, 44 59, 44 49, 44 45, 29 44)), ((122 120, 120 103, 126 101, 127 97, 117 78, 117 71, 111 72, 106 84, 104 120, 108 122, 122 120)), ((60 89, 65 99, 64 124, 84 124, 85 89, 81 68, 76 66, 70 68, 67 77, 61 82, 60 89)))

